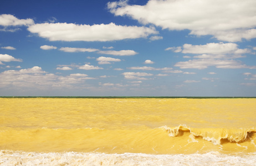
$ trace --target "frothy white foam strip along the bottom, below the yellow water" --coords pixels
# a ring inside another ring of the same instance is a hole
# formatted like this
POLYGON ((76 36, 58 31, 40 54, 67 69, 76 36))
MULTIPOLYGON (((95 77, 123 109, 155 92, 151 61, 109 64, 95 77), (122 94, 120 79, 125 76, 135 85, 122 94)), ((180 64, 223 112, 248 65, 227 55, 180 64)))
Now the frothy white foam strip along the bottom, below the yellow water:
POLYGON ((155 155, 0 151, 0 165, 256 165, 256 153, 155 155))

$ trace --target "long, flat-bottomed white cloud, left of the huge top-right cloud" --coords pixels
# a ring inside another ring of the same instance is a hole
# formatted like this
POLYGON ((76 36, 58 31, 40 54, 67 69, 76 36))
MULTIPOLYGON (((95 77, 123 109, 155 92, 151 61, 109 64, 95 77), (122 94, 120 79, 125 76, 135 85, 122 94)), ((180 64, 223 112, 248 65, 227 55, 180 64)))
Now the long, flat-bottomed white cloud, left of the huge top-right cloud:
POLYGON ((122 26, 114 23, 78 25, 73 23, 43 23, 34 24, 28 28, 31 33, 38 33, 39 37, 50 41, 87 41, 107 42, 123 39, 146 38, 150 34, 157 34, 154 28, 122 26))

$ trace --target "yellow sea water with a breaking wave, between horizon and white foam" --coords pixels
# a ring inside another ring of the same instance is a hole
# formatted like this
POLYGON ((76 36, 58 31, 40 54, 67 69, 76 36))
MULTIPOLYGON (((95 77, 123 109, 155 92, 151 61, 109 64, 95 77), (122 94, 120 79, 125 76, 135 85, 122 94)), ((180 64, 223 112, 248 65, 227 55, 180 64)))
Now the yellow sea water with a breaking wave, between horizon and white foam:
POLYGON ((254 153, 255 132, 256 98, 0 98, 2 152, 254 153))

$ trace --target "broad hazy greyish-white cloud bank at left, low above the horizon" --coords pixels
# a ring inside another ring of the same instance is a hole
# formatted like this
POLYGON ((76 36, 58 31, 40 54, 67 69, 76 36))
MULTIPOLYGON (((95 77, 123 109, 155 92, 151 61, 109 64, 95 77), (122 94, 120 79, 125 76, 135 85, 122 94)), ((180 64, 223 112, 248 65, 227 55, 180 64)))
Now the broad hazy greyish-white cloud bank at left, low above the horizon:
POLYGON ((49 89, 62 89, 62 88, 80 88, 74 86, 83 84, 86 79, 93 79, 78 75, 58 76, 43 71, 39 66, 34 66, 30 69, 22 70, 7 70, 0 73, 1 80, 0 87, 11 88, 17 90, 49 90, 49 89))

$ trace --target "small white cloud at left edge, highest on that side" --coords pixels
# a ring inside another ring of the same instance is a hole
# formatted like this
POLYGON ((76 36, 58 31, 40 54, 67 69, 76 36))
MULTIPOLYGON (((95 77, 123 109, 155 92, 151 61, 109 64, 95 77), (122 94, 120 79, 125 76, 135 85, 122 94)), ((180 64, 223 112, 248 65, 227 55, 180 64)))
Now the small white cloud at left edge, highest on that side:
POLYGON ((18 19, 11 14, 1 14, 0 15, 0 25, 7 26, 22 26, 22 25, 32 25, 34 24, 33 19, 18 19))

